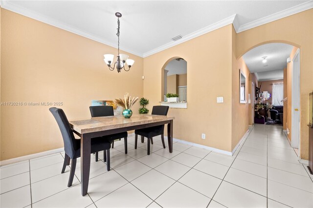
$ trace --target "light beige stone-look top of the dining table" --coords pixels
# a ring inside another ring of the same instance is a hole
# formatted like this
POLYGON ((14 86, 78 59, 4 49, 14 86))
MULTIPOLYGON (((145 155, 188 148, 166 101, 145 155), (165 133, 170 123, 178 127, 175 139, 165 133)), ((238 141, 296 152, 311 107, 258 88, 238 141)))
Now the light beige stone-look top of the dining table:
POLYGON ((69 124, 74 131, 84 134, 114 128, 169 121, 173 119, 175 119, 175 117, 135 114, 129 119, 126 119, 123 116, 92 117, 91 119, 69 121, 69 124))

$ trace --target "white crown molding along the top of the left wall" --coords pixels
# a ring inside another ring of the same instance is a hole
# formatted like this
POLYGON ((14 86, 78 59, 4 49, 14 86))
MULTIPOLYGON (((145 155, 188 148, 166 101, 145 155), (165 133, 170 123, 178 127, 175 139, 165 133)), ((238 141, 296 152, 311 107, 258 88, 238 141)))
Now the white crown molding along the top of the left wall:
MULTIPOLYGON (((10 10, 12 12, 15 12, 15 13, 18 13, 20 15, 26 16, 28 18, 44 22, 46 24, 58 27, 60 29, 66 30, 68 32, 74 33, 76 35, 79 35, 79 36, 82 36, 82 37, 85 37, 85 38, 88 38, 90 40, 109 45, 109 46, 111 46, 113 48, 117 48, 117 44, 116 43, 105 41, 104 39, 102 39, 100 37, 91 35, 91 34, 89 34, 87 32, 84 32, 84 31, 81 31, 81 30, 76 29, 74 27, 68 26, 68 25, 66 25, 66 24, 64 24, 64 23, 62 23, 60 21, 55 21, 55 20, 53 20, 51 18, 48 18, 48 17, 46 17, 44 15, 41 15, 41 14, 38 14, 38 13, 35 13, 35 12, 32 12, 32 11, 29 11, 27 9, 24 9, 24 8, 22 8, 20 6, 17 6, 15 4, 13 4, 12 2, 14 2, 14 1, 0 0, 0 6, 3 9, 10 10)), ((120 50, 123 50, 125 52, 134 54, 134 55, 139 56, 139 57, 143 57, 142 53, 139 53, 137 51, 131 50, 129 48, 120 47, 120 50)))

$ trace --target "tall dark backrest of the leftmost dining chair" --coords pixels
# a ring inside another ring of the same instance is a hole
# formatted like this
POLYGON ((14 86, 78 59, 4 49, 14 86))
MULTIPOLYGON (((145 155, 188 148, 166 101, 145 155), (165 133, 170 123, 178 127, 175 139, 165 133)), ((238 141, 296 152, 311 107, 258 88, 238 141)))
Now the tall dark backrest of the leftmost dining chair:
POLYGON ((61 108, 51 107, 49 110, 61 130, 64 142, 64 151, 70 158, 73 158, 75 151, 80 148, 80 145, 76 142, 72 128, 68 123, 67 116, 61 108))

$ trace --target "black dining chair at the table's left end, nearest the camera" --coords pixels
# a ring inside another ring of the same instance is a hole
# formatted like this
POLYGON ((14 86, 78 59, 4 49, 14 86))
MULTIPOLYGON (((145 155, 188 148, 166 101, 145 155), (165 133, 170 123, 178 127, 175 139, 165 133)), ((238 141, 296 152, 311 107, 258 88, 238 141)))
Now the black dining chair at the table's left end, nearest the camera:
MULTIPOLYGON (((65 157, 61 173, 64 173, 66 166, 69 165, 70 159, 72 160, 67 184, 67 187, 70 187, 72 186, 75 174, 76 159, 80 157, 80 139, 75 139, 73 130, 68 123, 67 116, 61 108, 51 107, 49 110, 59 125, 64 142, 65 157)), ((111 143, 108 139, 102 137, 91 138, 90 154, 102 150, 106 151, 105 162, 107 161, 108 171, 110 171, 110 147, 111 143)))

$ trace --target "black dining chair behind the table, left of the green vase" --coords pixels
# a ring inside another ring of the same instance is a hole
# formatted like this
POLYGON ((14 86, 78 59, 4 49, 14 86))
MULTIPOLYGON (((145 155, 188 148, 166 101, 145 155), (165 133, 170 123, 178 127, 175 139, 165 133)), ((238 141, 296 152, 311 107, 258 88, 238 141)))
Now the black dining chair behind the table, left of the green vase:
MULTIPOLYGON (((113 106, 110 105, 96 105, 96 106, 89 106, 91 117, 102 117, 102 116, 114 116, 113 106)), ((114 148, 114 140, 124 138, 124 148, 125 154, 127 154, 127 131, 111 134, 105 136, 112 142, 112 148, 114 148)), ((104 154, 104 153, 103 153, 104 154)), ((98 152, 96 152, 96 161, 98 161, 98 152)))

